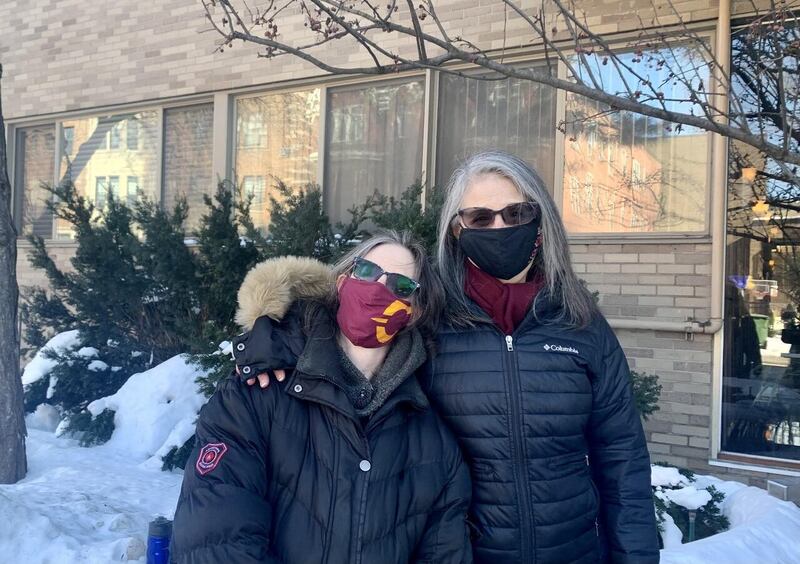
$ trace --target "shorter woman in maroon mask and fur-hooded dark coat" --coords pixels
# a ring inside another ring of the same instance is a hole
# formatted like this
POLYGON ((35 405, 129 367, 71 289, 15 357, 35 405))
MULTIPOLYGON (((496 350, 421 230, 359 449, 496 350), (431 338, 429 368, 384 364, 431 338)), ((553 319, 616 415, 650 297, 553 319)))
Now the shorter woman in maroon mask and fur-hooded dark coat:
POLYGON ((469 473, 416 378, 441 304, 422 248, 375 237, 332 274, 270 260, 239 304, 242 371, 261 343, 296 369, 264 392, 234 376, 202 409, 174 561, 471 562, 469 473))

